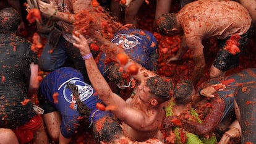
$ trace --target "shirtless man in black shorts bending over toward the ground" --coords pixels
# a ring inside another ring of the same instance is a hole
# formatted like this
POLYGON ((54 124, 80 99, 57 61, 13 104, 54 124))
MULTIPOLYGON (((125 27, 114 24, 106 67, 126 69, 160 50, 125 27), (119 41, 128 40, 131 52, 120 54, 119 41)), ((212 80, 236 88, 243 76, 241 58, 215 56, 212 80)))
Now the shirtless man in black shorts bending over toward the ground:
POLYGON ((221 42, 219 44, 222 50, 216 56, 210 69, 210 77, 218 77, 224 71, 238 65, 238 57, 243 45, 247 42, 251 24, 252 18, 249 12, 238 2, 199 0, 182 7, 177 14, 162 15, 158 19, 157 29, 161 35, 182 35, 181 48, 168 62, 181 59, 187 49, 190 49, 195 61, 192 80, 196 85, 205 67, 202 40, 216 38, 220 40, 218 42, 221 42), (237 53, 231 53, 232 51, 225 49, 226 41, 234 34, 241 36, 241 39, 237 41, 239 48, 233 45, 237 53))

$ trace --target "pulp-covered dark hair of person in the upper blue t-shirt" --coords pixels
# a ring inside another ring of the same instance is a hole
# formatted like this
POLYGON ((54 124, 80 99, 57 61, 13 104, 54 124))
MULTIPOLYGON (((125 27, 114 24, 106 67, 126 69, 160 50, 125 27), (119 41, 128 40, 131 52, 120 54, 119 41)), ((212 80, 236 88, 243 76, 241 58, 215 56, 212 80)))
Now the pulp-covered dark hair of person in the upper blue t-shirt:
POLYGON ((114 62, 108 66, 108 78, 116 85, 129 85, 130 82, 130 76, 124 70, 120 70, 119 64, 114 62))

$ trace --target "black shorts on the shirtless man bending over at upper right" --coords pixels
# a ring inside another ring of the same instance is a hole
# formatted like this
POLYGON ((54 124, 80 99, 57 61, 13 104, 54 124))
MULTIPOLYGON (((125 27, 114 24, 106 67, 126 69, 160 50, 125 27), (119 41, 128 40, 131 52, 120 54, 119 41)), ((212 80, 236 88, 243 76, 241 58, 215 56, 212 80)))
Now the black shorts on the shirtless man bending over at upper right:
POLYGON ((218 46, 222 50, 218 52, 215 61, 213 62, 213 66, 215 66, 217 69, 226 71, 229 69, 232 69, 234 67, 237 67, 239 65, 239 56, 241 55, 242 51, 244 51, 244 47, 247 44, 247 41, 250 38, 250 35, 252 35, 253 27, 251 26, 250 29, 244 33, 241 36, 241 39, 239 40, 239 50, 241 51, 240 53, 233 55, 229 53, 228 51, 224 50, 226 46, 226 41, 229 40, 231 36, 224 40, 218 40, 218 46))

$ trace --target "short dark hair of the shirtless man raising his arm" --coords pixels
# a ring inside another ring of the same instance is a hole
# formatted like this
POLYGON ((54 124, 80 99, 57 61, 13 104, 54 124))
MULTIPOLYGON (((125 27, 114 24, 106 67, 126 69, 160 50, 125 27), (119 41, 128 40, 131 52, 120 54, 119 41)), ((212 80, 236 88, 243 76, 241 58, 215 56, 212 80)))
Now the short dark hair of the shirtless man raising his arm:
POLYGON ((171 79, 160 76, 150 77, 147 79, 146 85, 150 88, 150 93, 160 98, 161 102, 169 100, 173 88, 171 79))

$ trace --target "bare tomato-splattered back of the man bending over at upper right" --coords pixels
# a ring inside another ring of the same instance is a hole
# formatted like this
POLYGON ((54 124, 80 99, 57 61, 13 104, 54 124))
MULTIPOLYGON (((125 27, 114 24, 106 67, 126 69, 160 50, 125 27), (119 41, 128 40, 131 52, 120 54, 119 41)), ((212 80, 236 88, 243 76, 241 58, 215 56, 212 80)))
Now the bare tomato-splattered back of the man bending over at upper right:
POLYGON ((177 17, 181 22, 188 46, 193 44, 190 41, 194 41, 194 38, 195 40, 212 37, 224 39, 234 33, 241 35, 249 30, 252 22, 247 9, 235 1, 191 2, 178 12, 177 17))

